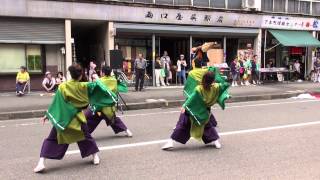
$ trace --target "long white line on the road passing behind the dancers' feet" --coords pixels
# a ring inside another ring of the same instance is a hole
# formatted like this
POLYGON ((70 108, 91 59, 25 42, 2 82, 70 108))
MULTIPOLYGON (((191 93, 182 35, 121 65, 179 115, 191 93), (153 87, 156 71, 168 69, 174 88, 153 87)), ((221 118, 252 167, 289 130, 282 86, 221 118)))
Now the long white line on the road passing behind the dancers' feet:
MULTIPOLYGON (((237 135, 237 134, 249 134, 249 133, 256 133, 256 132, 279 130, 279 129, 312 126, 312 125, 320 125, 320 121, 297 123, 297 124, 288 124, 288 125, 281 125, 281 126, 271 126, 271 127, 256 128, 256 129, 246 129, 246 130, 239 130, 239 131, 229 131, 229 132, 219 133, 219 135, 220 136, 229 136, 229 135, 237 135)), ((147 146, 147 145, 162 144, 162 143, 167 142, 168 140, 169 139, 161 139, 161 140, 138 142, 138 143, 131 143, 131 144, 122 144, 122 145, 114 145, 114 146, 103 146, 103 147, 99 147, 99 150, 100 151, 106 151, 106 150, 124 149, 124 148, 131 148, 131 147, 141 147, 141 146, 147 146)), ((66 154, 68 154, 68 155, 78 154, 78 153, 80 153, 79 150, 71 150, 71 151, 67 151, 66 152, 66 154)))

